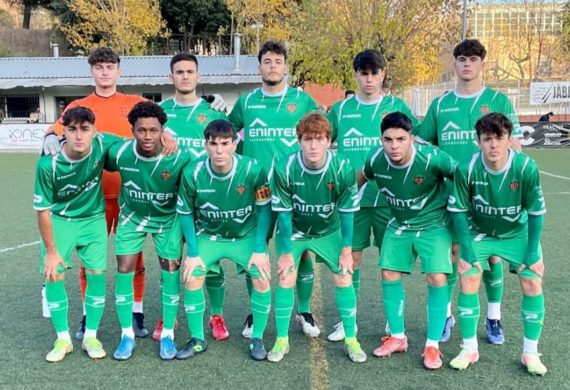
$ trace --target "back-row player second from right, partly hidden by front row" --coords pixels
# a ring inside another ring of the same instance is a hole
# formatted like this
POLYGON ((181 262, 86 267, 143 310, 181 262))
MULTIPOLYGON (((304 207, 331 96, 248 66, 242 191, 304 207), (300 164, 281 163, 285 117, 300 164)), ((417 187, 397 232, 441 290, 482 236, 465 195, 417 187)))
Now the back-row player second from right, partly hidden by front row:
MULTIPOLYGON (((371 49, 361 51, 354 57, 352 66, 354 78, 358 83, 356 95, 352 94, 349 98, 335 103, 328 119, 332 126, 332 140, 337 142, 339 155, 358 170, 364 165, 368 153, 380 145, 378 129, 384 116, 400 111, 412 120, 413 125, 417 125, 418 121, 403 100, 383 95, 386 62, 382 53, 371 49)), ((370 247, 371 234, 374 235, 374 245, 380 249, 390 214, 390 208, 378 187, 366 186, 360 200, 360 210, 354 213, 352 283, 357 299, 360 291, 362 251, 370 247)), ((342 322, 335 325, 334 332, 327 338, 330 341, 344 339, 342 322)))

